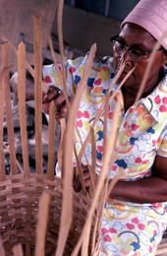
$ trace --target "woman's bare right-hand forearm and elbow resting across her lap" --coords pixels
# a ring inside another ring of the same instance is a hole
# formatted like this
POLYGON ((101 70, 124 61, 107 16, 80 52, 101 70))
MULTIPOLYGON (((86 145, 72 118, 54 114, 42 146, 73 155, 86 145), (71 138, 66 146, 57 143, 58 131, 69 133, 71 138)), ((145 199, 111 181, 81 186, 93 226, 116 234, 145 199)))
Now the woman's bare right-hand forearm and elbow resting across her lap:
POLYGON ((156 157, 151 177, 137 181, 118 181, 110 198, 133 203, 167 201, 167 158, 156 157))

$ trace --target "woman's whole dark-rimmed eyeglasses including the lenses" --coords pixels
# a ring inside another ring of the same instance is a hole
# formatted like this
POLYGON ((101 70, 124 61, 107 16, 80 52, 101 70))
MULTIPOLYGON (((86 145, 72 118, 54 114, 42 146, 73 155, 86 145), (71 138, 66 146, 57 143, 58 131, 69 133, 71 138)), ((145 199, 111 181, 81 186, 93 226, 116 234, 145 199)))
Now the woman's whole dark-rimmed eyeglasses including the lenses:
MULTIPOLYGON (((126 44, 121 42, 121 39, 119 38, 119 35, 116 35, 114 37, 110 38, 110 41, 113 43, 113 49, 116 52, 117 55, 122 55, 128 50, 129 55, 132 58, 132 61, 139 62, 139 60, 146 56, 147 54, 155 51, 155 50, 141 50, 139 48, 135 47, 128 47, 126 44)), ((164 50, 163 47, 160 47, 156 51, 164 50)))

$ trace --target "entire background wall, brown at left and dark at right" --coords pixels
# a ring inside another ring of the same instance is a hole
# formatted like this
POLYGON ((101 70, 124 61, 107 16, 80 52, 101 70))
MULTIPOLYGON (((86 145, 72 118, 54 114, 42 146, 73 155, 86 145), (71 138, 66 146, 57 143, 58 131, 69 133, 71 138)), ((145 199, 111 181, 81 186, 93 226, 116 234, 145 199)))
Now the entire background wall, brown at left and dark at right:
MULTIPOLYGON (((96 55, 112 55, 110 36, 120 31, 120 25, 139 0, 65 0, 63 10, 63 35, 65 45, 71 48, 73 57, 87 52, 97 43, 96 55)), ((55 50, 57 42, 58 0, 0 0, 0 31, 15 47, 26 42, 27 60, 33 64, 33 18, 39 14, 42 22, 43 59, 50 61, 48 36, 52 33, 55 50), (23 36, 24 34, 24 36, 23 36)), ((1 35, 0 34, 0 35, 1 35)), ((65 54, 67 57, 67 54, 65 54)), ((73 58, 72 57, 72 58, 73 58)), ((51 58, 52 59, 52 58, 51 58)), ((11 54, 13 69, 16 58, 11 54)))

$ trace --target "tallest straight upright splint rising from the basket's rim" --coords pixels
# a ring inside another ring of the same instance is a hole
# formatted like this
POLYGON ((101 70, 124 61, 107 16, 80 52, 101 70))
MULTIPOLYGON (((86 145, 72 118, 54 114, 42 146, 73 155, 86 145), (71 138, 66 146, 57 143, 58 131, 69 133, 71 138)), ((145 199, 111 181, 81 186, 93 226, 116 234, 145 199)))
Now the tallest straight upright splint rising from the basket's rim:
POLYGON ((41 21, 34 17, 34 104, 35 104, 35 169, 42 173, 42 91, 41 91, 41 21))

